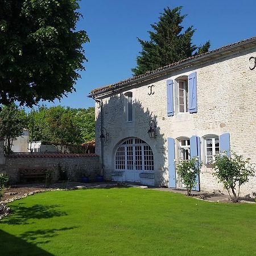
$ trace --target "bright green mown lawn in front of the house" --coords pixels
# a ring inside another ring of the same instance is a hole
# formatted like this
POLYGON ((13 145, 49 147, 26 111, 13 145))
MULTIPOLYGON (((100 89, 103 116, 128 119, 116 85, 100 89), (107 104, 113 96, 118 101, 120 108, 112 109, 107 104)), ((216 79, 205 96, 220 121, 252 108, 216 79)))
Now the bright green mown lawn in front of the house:
POLYGON ((256 255, 256 205, 137 188, 14 201, 0 255, 256 255))

